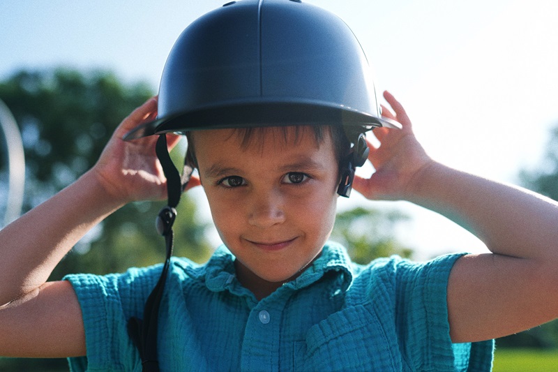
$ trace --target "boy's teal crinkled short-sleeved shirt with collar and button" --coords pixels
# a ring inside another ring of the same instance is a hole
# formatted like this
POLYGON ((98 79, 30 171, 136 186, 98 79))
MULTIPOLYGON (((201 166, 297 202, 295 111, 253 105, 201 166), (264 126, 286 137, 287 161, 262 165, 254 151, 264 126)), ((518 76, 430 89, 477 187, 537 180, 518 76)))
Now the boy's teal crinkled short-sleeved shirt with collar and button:
MULTIPOLYGON (((161 371, 490 371, 493 341, 452 344, 446 288, 460 255, 424 264, 352 263, 329 243, 296 280, 257 301, 220 247, 205 265, 173 258, 159 314, 161 371)), ((128 318, 142 318, 161 265, 70 275, 87 356, 72 371, 141 371, 128 318)))

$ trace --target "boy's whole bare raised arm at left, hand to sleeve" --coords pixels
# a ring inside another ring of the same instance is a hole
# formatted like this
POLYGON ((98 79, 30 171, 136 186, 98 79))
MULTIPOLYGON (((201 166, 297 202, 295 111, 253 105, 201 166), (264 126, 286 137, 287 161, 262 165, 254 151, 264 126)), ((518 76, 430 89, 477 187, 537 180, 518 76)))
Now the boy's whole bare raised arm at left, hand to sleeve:
MULTIPOLYGON (((112 211, 133 200, 165 196, 156 139, 121 140, 130 129, 153 119, 156 110, 156 98, 138 107, 116 129, 91 170, 0 231, 0 355, 84 354, 73 288, 67 282, 45 281, 74 244, 112 211)), ((173 137, 170 146, 176 140, 173 137)))

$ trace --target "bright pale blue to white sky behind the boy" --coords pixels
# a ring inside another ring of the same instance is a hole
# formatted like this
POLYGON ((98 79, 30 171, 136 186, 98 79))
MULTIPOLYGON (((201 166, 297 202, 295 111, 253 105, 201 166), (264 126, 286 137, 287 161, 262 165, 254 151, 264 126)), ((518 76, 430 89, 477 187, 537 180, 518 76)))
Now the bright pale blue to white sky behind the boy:
MULTIPOLYGON (((181 31, 225 2, 1 1, 0 80, 22 68, 105 68, 156 90, 181 31)), ((349 24, 377 89, 405 106, 432 157, 513 184, 520 170, 541 162, 550 128, 558 125, 558 2, 305 2, 349 24)), ((469 232, 407 202, 370 202, 353 193, 340 209, 356 204, 412 216, 398 238, 418 258, 485 251, 469 232)))

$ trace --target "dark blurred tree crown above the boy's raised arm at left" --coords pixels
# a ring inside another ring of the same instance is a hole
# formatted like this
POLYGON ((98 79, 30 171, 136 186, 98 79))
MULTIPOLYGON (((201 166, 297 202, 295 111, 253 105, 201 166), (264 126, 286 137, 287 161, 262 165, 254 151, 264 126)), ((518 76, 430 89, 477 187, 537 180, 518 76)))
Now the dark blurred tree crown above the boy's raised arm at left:
POLYGON ((20 125, 31 177, 59 189, 91 168, 116 125, 151 89, 110 72, 21 71, 0 84, 20 125))

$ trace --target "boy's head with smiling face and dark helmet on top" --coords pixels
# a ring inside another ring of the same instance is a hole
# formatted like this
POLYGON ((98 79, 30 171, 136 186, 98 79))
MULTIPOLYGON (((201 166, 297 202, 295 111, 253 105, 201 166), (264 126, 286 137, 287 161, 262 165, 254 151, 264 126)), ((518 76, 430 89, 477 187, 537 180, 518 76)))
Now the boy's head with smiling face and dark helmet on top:
MULTIPOLYGON (((398 124, 381 117, 370 66, 345 22, 301 1, 242 0, 183 31, 161 77, 158 119, 128 138, 190 133, 188 160, 223 241, 252 274, 283 281, 329 237, 336 192, 349 195, 366 158, 358 133, 375 126, 398 124), (258 250, 266 258, 255 258, 258 250)), ((162 163, 172 174, 172 162, 162 163)), ((174 179, 170 209, 181 190, 174 179)))

